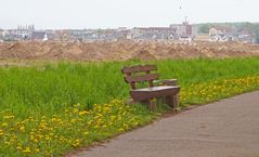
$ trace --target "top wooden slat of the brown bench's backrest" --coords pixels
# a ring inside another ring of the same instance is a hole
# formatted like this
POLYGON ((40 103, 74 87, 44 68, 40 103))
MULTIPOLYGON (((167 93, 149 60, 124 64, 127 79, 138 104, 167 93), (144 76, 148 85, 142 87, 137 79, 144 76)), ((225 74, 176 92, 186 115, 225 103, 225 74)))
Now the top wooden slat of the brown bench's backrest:
POLYGON ((141 71, 150 71, 150 70, 157 70, 156 65, 139 65, 139 66, 130 66, 130 67, 122 67, 122 74, 129 73, 141 73, 141 71))

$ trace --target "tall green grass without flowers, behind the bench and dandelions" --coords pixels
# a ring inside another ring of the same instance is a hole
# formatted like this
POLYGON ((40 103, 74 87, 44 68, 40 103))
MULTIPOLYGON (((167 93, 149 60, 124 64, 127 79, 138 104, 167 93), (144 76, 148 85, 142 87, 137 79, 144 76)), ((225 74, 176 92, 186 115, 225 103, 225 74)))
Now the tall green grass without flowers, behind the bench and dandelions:
POLYGON ((192 83, 259 75, 259 58, 168 60, 141 63, 68 63, 0 68, 0 109, 21 117, 30 113, 56 114, 80 103, 93 104, 129 97, 120 69, 137 64, 156 64, 161 78, 177 78, 183 88, 192 83))

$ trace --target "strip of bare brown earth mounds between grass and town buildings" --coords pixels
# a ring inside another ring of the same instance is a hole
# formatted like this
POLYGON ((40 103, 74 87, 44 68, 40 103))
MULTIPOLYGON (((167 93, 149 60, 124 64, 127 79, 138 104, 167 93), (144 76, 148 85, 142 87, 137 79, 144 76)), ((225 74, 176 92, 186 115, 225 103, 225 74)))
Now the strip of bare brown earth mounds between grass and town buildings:
POLYGON ((0 60, 127 61, 193 57, 259 56, 259 44, 236 42, 8 42, 0 60))

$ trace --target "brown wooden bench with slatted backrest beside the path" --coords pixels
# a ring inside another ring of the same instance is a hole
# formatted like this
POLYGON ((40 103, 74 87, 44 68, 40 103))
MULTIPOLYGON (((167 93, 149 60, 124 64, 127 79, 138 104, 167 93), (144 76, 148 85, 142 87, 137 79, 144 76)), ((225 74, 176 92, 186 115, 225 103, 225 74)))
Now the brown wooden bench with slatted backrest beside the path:
MULTIPOLYGON (((130 96, 135 102, 147 103, 154 105, 152 100, 156 97, 165 97, 166 103, 177 109, 179 105, 180 87, 177 86, 176 79, 157 80, 159 74, 152 73, 157 70, 156 65, 138 65, 122 67, 121 73, 125 75, 125 81, 130 83, 130 96), (148 88, 137 89, 137 83, 148 82, 148 88)), ((154 108, 154 107, 151 107, 154 108)))

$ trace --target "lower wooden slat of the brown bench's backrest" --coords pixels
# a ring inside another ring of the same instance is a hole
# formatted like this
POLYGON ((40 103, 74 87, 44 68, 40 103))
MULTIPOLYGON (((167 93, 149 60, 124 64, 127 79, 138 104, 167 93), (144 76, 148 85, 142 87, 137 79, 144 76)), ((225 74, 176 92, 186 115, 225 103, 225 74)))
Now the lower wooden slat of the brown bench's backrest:
POLYGON ((152 81, 159 78, 159 74, 146 74, 142 76, 126 76, 125 80, 128 83, 131 82, 143 82, 143 81, 152 81))

